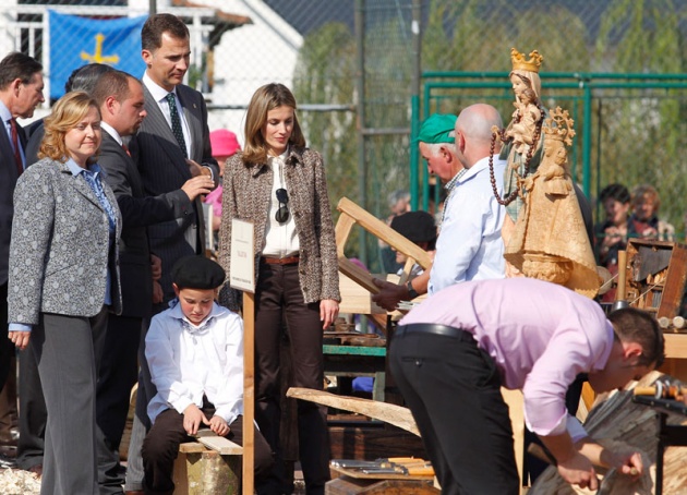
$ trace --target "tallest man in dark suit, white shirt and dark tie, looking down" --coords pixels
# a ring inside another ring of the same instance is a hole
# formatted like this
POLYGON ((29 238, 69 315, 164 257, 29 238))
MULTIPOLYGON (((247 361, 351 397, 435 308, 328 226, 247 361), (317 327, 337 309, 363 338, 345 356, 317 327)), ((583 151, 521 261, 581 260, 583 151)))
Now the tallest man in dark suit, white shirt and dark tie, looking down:
MULTIPOLYGON (((201 93, 182 84, 191 57, 189 28, 174 15, 152 15, 141 31, 141 47, 146 64, 143 86, 147 117, 136 144, 146 193, 157 196, 174 191, 200 174, 212 177, 217 184, 219 167, 212 154, 205 100, 201 93)), ((205 253, 204 229, 200 197, 193 202, 189 215, 148 229, 150 250, 162 261, 160 285, 165 303, 174 298, 170 273, 177 259, 205 253)), ((154 311, 165 307, 166 304, 158 304, 154 311)), ((146 390, 154 391, 144 358, 129 447, 125 487, 130 493, 143 493, 141 445, 145 426, 149 426, 147 401, 153 397, 146 390)))

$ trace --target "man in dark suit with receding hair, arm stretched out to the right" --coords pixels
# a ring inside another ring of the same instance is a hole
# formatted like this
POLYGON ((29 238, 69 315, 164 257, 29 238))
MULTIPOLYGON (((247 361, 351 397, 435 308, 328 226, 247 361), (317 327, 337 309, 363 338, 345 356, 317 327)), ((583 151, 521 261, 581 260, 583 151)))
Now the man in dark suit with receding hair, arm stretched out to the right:
POLYGON ((192 214, 193 201, 207 194, 214 182, 201 174, 181 189, 146 196, 136 164, 122 140, 134 135, 146 117, 142 84, 126 73, 109 71, 99 77, 93 97, 103 119, 98 164, 117 195, 123 219, 119 244, 123 307, 121 315, 109 315, 96 391, 97 423, 103 434, 98 438, 98 483, 104 495, 121 493, 119 444, 129 395, 137 377, 142 323, 153 312, 154 274, 146 227, 192 214))

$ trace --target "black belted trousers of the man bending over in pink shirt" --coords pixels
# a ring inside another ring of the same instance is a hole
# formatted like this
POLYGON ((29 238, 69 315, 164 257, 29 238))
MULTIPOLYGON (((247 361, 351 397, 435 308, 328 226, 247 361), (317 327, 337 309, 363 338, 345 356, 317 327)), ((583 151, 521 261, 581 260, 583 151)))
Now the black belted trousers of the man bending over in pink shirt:
POLYGON ((394 337, 390 370, 444 495, 519 493, 508 407, 492 358, 471 337, 394 337))

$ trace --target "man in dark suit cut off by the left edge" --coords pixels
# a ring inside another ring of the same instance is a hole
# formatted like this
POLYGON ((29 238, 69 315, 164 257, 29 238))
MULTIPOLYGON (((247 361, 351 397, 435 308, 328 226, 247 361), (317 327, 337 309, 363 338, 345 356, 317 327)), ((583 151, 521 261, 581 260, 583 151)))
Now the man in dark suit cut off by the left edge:
MULTIPOLYGON (((8 323, 8 263, 14 206, 12 196, 16 179, 26 168, 26 135, 16 118, 33 117, 35 108, 44 101, 43 65, 20 52, 8 55, 0 61, 0 324, 8 323)), ((0 390, 8 381, 14 345, 0 338, 0 390)), ((14 375, 13 375, 14 376, 14 375)), ((15 397, 12 398, 15 400, 15 397)), ((9 430, 9 428, 7 428, 9 430)), ((0 444, 12 443, 9 431, 2 432, 0 444)))

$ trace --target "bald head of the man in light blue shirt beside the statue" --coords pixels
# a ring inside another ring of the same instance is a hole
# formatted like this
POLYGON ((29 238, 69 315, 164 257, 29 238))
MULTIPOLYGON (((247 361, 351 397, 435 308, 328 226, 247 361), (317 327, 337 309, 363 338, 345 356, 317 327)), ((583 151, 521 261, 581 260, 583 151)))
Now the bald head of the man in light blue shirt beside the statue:
MULTIPOLYGON (((475 104, 466 107, 456 120, 456 149, 465 168, 490 154, 492 126, 503 128, 498 110, 491 105, 475 104)), ((497 140, 498 149, 499 141, 497 140)))

